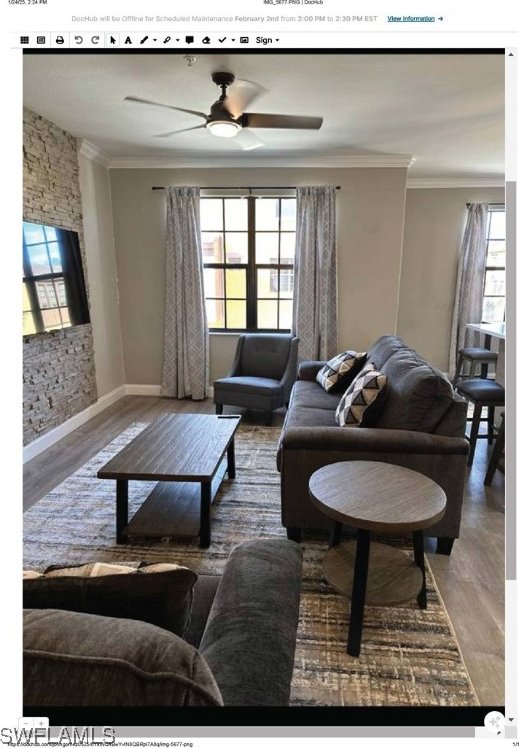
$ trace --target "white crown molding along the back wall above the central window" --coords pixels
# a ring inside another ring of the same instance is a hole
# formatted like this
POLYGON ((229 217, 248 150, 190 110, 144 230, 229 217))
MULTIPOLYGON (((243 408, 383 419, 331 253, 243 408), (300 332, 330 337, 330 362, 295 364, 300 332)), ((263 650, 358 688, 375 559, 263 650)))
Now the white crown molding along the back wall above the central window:
POLYGON ((300 156, 266 156, 261 158, 248 155, 241 156, 200 156, 194 154, 179 157, 172 156, 114 156, 109 159, 110 169, 207 169, 207 168, 349 168, 349 169, 407 169, 413 163, 412 156, 406 154, 379 155, 300 155, 300 156))

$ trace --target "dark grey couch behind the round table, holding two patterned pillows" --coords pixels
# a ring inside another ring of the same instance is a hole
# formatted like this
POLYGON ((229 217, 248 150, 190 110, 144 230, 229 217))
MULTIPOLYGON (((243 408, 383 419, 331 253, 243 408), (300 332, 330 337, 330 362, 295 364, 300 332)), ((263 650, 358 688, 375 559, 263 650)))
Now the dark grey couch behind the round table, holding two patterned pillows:
POLYGON ((313 472, 343 460, 380 460, 417 470, 443 488, 447 511, 425 533, 438 539, 438 552, 450 554, 459 537, 465 486, 466 402, 403 340, 384 335, 367 355, 367 363, 388 377, 376 427, 340 427, 335 409, 341 394, 329 394, 315 381, 323 363, 300 365, 279 441, 282 522, 288 537, 299 540, 302 528, 331 530, 331 520, 308 496, 313 472))

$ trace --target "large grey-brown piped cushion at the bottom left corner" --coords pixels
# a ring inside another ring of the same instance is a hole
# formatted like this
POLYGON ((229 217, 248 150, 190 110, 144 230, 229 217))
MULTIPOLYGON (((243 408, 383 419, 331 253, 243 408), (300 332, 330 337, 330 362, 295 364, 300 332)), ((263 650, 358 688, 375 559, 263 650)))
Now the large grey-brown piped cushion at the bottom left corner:
POLYGON ((25 610, 23 668, 26 707, 223 703, 204 657, 142 621, 25 610))

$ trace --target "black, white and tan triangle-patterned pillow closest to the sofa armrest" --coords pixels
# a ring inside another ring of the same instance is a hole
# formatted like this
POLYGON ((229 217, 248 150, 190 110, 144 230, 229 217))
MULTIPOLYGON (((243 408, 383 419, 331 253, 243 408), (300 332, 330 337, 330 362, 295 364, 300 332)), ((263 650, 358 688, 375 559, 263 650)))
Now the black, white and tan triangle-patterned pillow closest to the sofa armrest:
POLYGON ((341 397, 335 422, 339 426, 373 426, 386 395, 386 375, 368 364, 341 397))

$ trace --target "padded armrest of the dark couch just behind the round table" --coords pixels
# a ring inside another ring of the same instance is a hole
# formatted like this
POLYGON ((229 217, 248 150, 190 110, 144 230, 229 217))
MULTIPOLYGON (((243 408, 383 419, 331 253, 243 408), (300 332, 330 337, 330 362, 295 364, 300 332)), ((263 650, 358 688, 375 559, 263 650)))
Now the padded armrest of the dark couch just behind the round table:
MULTIPOLYGON (((461 437, 438 436, 401 429, 344 428, 341 426, 293 426, 283 432, 281 447, 320 452, 377 452, 401 454, 468 454, 461 437)), ((374 458, 376 459, 376 458, 374 458)))

